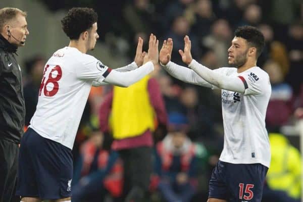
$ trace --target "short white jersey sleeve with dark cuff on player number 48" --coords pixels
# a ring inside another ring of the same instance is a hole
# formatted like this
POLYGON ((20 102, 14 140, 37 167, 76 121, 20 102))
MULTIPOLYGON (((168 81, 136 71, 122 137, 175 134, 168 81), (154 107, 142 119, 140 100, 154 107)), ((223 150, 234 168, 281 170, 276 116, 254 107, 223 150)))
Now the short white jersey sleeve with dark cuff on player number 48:
POLYGON ((80 62, 82 65, 76 69, 76 74, 83 80, 103 81, 112 70, 93 56, 84 55, 80 62))

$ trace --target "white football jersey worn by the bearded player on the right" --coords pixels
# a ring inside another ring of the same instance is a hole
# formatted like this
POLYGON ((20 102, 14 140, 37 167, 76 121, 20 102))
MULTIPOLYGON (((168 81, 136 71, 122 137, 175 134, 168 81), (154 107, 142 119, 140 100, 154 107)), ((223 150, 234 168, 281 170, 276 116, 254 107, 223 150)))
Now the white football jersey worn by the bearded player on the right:
POLYGON ((227 76, 238 76, 244 93, 222 89, 224 148, 223 162, 233 164, 260 163, 270 165, 270 143, 265 127, 265 115, 271 95, 268 74, 259 67, 237 73, 236 68, 216 70, 227 76))

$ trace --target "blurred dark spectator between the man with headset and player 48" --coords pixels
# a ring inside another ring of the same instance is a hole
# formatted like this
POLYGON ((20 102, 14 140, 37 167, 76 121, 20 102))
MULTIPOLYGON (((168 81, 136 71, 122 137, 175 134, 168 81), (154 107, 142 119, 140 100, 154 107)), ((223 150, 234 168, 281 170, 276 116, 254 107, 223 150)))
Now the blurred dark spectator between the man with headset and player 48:
POLYGON ((33 56, 25 62, 27 72, 26 83, 23 87, 25 100, 25 125, 28 126, 30 119, 36 111, 38 92, 42 81, 43 69, 46 61, 42 56, 33 56))

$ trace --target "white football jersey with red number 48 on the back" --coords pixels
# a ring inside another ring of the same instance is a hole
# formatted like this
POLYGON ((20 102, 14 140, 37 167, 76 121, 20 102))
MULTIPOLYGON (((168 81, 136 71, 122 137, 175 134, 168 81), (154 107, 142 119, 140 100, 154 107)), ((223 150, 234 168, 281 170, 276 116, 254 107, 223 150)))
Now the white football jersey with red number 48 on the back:
POLYGON ((47 61, 30 126, 42 137, 72 149, 93 81, 111 71, 74 47, 59 49, 47 61))

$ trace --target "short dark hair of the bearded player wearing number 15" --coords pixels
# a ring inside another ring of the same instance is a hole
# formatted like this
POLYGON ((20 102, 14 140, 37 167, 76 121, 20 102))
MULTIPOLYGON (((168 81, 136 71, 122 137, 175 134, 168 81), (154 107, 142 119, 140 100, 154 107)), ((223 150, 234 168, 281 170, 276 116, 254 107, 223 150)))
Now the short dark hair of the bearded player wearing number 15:
POLYGON ((244 38, 249 47, 257 48, 257 58, 261 55, 264 47, 264 35, 256 27, 242 26, 238 27, 235 31, 236 37, 244 38))

